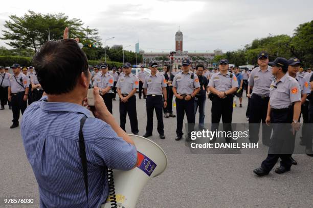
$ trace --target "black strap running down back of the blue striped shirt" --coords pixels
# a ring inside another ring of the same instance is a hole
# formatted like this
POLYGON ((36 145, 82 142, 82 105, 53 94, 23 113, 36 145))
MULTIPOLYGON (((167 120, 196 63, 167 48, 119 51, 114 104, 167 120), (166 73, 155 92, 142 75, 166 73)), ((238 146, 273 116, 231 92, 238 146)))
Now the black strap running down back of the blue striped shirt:
POLYGON ((84 141, 84 135, 82 132, 82 128, 84 126, 84 123, 86 121, 86 116, 82 117, 80 119, 80 128, 79 128, 79 154, 81 159, 81 164, 83 168, 83 174, 84 174, 84 183, 85 183, 85 190, 86 190, 86 197, 87 197, 87 207, 89 207, 88 202, 88 172, 87 172, 87 157, 86 157, 86 149, 85 149, 85 141, 84 141))

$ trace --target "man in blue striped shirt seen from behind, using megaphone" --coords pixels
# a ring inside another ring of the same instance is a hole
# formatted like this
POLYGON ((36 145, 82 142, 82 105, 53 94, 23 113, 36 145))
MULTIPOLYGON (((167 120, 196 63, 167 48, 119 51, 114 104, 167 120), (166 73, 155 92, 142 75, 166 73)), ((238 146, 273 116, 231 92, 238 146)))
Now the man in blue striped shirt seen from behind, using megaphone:
POLYGON ((68 29, 64 40, 41 47, 34 66, 47 96, 25 111, 21 136, 39 186, 40 207, 100 207, 108 196, 107 168, 135 167, 136 147, 107 110, 97 87, 95 106, 88 107, 96 118, 82 106, 91 73, 76 40, 68 39, 68 29), (83 117, 88 189, 79 146, 83 117))

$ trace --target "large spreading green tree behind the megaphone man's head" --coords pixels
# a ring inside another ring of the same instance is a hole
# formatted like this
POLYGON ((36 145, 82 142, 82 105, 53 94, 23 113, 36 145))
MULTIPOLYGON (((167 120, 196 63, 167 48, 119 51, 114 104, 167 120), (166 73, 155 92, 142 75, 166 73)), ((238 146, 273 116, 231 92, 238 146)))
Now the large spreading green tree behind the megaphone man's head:
POLYGON ((85 29, 80 19, 69 19, 63 13, 59 14, 41 14, 33 11, 28 11, 24 16, 18 17, 10 15, 10 20, 5 21, 4 27, 7 30, 2 30, 3 40, 9 40, 8 45, 17 49, 33 48, 37 49, 48 41, 50 30, 51 40, 60 40, 63 38, 65 27, 70 30, 70 38, 78 37, 82 40, 87 38, 97 42, 99 39, 97 30, 85 29))

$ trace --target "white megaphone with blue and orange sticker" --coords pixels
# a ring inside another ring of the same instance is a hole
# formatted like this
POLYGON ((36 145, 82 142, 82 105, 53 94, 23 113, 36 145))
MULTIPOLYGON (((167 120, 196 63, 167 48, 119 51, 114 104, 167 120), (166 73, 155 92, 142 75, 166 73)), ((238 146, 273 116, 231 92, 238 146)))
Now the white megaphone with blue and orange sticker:
MULTIPOLYGON (((152 177, 160 175, 167 166, 163 149, 151 140, 129 135, 138 151, 139 165, 128 171, 113 170, 116 204, 118 208, 135 208, 141 190, 152 177)), ((110 183, 110 182, 109 182, 110 183)), ((110 194, 110 193, 109 193, 110 194)), ((101 208, 114 207, 110 195, 101 208)))

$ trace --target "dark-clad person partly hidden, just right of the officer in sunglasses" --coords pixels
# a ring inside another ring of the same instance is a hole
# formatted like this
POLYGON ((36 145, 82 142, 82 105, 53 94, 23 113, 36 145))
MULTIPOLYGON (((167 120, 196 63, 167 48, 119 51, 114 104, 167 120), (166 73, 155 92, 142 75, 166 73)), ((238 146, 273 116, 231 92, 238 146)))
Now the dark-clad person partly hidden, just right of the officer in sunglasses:
POLYGON ((175 118, 176 116, 173 114, 173 105, 172 105, 174 96, 172 82, 174 80, 175 75, 170 71, 169 65, 165 65, 163 67, 166 67, 166 73, 164 74, 164 77, 167 84, 166 87, 167 106, 163 109, 164 118, 168 117, 175 118))

